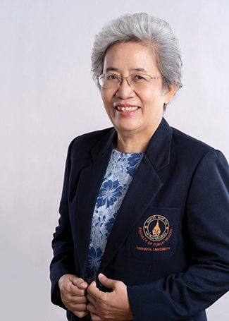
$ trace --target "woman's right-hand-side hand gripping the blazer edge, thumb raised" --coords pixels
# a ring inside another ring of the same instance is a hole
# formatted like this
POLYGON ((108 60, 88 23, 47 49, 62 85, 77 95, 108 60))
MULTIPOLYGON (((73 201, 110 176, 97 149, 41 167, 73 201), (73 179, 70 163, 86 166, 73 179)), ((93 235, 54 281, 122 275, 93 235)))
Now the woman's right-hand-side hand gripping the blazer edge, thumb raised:
POLYGON ((133 320, 127 286, 122 281, 108 279, 101 273, 99 281, 113 291, 99 291, 95 281, 88 286, 87 310, 91 313, 92 320, 133 320))

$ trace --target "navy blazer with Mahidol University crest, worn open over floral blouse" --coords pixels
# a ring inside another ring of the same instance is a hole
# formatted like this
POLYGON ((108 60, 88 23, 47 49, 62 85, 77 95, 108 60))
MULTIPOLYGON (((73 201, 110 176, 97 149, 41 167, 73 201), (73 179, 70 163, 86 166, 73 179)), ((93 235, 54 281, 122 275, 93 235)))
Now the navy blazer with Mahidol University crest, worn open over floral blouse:
MULTIPOLYGON (((85 279, 92 214, 114 128, 70 144, 54 234, 51 300, 58 279, 85 279)), ((229 289, 229 167, 223 154, 163 119, 123 199, 99 272, 128 286, 135 321, 206 320, 229 289)), ((79 319, 68 311, 68 320, 79 319)))

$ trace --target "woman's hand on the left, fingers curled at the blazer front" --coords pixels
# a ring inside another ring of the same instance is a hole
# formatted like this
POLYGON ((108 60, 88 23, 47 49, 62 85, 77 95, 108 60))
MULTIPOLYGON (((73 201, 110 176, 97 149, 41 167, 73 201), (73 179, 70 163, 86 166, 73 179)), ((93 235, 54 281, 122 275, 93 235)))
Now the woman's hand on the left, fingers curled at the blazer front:
POLYGON ((58 286, 61 291, 61 300, 66 308, 78 317, 85 317, 89 313, 86 297, 87 282, 73 274, 64 274, 58 280, 58 286))

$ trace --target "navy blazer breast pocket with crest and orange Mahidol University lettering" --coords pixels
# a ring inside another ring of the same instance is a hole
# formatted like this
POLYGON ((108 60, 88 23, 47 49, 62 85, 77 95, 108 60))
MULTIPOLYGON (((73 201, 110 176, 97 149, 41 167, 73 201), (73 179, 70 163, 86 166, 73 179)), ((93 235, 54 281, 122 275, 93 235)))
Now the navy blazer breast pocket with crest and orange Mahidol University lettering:
POLYGON ((180 208, 149 207, 132 229, 130 251, 140 260, 166 260, 175 252, 180 208))

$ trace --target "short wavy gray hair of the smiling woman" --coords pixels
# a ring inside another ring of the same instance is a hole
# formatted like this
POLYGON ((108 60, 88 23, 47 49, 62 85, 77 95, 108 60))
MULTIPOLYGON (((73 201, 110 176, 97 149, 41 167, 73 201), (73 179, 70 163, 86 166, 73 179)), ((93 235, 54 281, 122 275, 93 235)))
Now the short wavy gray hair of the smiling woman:
MULTIPOLYGON (((139 42, 149 46, 163 75, 163 88, 182 87, 182 59, 178 38, 166 21, 147 13, 126 14, 104 25, 95 36, 92 49, 92 74, 97 80, 104 66, 106 50, 118 42, 139 42)), ((98 84, 99 85, 99 84, 98 84)))

